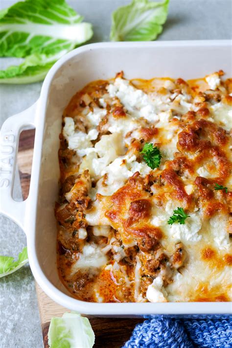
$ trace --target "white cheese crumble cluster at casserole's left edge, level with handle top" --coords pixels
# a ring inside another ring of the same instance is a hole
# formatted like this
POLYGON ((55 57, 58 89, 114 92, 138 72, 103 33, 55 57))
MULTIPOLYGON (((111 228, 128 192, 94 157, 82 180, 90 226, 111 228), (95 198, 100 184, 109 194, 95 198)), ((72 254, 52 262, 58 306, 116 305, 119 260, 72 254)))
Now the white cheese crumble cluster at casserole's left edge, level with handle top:
POLYGON ((69 149, 75 150, 79 156, 85 156, 94 151, 91 140, 97 139, 98 131, 92 129, 88 134, 75 131, 75 124, 72 117, 65 117, 63 135, 68 141, 69 149))

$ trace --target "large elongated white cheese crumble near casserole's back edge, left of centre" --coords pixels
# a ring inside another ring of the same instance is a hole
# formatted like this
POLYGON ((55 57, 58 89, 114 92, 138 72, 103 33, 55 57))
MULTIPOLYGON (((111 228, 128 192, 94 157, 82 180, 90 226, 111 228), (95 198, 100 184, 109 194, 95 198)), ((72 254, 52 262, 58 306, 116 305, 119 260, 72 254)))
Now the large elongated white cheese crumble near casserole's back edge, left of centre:
POLYGON ((111 97, 116 96, 134 117, 143 117, 153 122, 158 120, 156 108, 148 94, 132 86, 128 80, 116 78, 114 85, 108 86, 108 92, 111 97))

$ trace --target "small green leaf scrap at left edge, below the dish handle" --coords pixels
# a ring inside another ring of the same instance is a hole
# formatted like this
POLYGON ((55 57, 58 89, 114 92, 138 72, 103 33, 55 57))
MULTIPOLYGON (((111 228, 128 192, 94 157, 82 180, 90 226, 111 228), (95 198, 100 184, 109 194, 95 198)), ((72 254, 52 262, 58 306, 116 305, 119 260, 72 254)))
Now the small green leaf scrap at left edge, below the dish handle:
POLYGON ((11 256, 0 256, 0 278, 17 271, 27 262, 26 247, 24 247, 23 251, 19 254, 17 261, 14 261, 14 257, 11 256))

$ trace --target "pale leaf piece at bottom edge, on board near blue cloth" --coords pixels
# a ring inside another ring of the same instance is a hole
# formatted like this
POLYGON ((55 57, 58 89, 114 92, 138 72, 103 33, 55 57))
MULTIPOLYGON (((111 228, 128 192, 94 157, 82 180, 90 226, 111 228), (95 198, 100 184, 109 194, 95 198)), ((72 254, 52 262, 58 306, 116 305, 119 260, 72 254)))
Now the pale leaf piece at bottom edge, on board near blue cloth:
POLYGON ((50 348, 92 348, 94 332, 89 319, 78 313, 64 313, 62 318, 52 318, 48 330, 50 348))

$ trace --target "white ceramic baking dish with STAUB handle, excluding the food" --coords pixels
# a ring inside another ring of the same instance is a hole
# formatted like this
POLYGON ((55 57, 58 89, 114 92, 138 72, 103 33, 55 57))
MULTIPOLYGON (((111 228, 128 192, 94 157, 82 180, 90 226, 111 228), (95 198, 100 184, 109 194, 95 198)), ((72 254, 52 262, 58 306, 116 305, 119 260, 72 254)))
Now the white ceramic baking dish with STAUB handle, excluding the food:
POLYGON ((63 306, 85 314, 138 316, 149 314, 226 314, 229 302, 91 303, 71 297, 56 269, 58 148, 62 112, 71 96, 88 82, 113 77, 124 70, 127 78, 205 76, 222 69, 232 76, 230 41, 172 41, 101 43, 77 48, 48 72, 39 100, 23 113, 6 120, 1 130, 1 212, 15 220, 27 236, 30 267, 46 294, 63 306), (20 131, 36 127, 30 192, 26 201, 12 199, 20 131))

